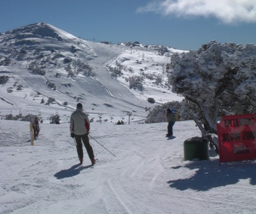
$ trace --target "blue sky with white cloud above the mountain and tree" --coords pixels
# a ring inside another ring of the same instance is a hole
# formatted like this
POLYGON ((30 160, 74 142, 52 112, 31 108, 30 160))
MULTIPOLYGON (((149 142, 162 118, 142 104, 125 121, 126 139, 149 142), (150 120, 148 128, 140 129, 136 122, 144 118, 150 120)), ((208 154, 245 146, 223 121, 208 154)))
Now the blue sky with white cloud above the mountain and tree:
POLYGON ((3 0, 0 14, 1 33, 47 22, 93 41, 256 44, 256 0, 3 0))

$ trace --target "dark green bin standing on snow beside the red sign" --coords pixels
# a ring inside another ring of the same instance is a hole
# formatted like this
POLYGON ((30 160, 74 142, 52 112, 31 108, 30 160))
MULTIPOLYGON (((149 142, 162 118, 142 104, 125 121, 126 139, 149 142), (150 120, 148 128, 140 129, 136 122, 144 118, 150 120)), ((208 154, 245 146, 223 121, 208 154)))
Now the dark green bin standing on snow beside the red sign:
POLYGON ((192 137, 184 141, 184 159, 192 161, 198 158, 200 161, 209 159, 209 144, 207 139, 192 137))

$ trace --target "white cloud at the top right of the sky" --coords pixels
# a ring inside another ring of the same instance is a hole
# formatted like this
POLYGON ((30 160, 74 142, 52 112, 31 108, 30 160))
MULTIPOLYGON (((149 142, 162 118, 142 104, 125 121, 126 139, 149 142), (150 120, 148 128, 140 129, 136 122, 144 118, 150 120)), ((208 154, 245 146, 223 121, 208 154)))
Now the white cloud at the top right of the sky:
POLYGON ((226 24, 256 22, 256 0, 155 0, 137 11, 178 17, 214 16, 226 24))

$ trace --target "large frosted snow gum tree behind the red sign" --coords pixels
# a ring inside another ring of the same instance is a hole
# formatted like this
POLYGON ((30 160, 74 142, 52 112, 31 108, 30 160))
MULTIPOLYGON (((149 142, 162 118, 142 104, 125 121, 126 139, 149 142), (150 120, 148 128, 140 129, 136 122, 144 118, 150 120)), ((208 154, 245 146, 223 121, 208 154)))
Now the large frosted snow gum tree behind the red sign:
POLYGON ((203 137, 217 134, 223 115, 255 112, 255 56, 256 45, 211 41, 171 57, 167 67, 172 91, 185 97, 203 137))

